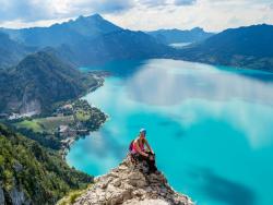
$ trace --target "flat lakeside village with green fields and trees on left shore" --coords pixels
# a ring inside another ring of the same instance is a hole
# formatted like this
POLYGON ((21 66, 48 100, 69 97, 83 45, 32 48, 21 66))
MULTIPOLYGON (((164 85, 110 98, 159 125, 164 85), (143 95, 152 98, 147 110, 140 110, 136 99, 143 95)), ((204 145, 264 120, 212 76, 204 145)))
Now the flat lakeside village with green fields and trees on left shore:
POLYGON ((35 118, 32 114, 13 113, 0 117, 29 138, 60 152, 63 159, 75 140, 98 130, 107 119, 104 112, 84 99, 57 108, 50 117, 35 118))

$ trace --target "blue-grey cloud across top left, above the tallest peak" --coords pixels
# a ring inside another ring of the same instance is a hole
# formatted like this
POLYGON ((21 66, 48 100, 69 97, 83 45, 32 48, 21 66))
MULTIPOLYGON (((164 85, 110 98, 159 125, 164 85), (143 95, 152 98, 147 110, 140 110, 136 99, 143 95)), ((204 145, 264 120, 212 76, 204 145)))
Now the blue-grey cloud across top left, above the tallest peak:
POLYGON ((133 0, 0 0, 0 22, 35 22, 127 11, 133 0))

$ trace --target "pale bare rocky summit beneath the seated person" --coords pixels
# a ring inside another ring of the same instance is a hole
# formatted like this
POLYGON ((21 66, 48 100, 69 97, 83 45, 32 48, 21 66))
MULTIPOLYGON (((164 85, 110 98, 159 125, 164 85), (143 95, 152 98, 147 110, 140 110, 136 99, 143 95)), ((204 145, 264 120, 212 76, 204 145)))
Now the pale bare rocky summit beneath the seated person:
POLYGON ((127 157, 109 173, 95 178, 75 205, 192 205, 191 200, 174 191, 159 171, 147 173, 145 161, 132 164, 127 157))

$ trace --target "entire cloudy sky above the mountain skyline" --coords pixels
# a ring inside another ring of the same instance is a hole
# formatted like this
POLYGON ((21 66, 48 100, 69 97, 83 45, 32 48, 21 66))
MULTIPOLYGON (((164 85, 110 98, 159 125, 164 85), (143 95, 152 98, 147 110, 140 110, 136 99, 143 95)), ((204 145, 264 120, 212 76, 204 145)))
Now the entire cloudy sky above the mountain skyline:
POLYGON ((130 29, 273 24, 273 0, 0 0, 0 26, 48 26, 79 15, 102 14, 130 29))

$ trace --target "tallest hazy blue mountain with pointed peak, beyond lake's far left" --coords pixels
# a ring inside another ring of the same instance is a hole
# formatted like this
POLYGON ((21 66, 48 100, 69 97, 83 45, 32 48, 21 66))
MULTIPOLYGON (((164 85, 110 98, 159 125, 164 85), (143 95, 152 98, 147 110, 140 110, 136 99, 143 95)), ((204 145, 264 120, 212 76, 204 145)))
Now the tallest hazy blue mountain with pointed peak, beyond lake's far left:
POLYGON ((27 46, 54 48, 59 58, 76 67, 110 60, 161 58, 171 52, 171 48, 144 32, 123 29, 98 14, 49 27, 0 31, 27 46))

